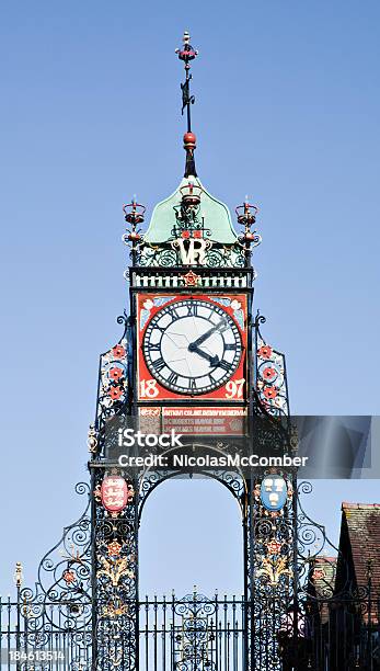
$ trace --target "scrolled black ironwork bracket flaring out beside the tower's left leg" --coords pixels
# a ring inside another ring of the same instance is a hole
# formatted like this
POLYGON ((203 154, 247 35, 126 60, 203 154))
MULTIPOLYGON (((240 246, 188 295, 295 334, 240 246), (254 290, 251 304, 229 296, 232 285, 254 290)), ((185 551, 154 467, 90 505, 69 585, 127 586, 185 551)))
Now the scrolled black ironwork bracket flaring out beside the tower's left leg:
MULTIPOLYGON (((60 541, 43 557, 34 590, 22 587, 22 568, 18 565, 18 603, 13 604, 19 622, 13 644, 16 649, 44 652, 54 649, 58 639, 70 638, 67 661, 72 669, 76 659, 91 658, 92 641, 90 488, 79 482, 76 491, 88 499, 83 514, 65 527, 60 541)), ((35 668, 45 669, 48 662, 41 664, 35 668)))

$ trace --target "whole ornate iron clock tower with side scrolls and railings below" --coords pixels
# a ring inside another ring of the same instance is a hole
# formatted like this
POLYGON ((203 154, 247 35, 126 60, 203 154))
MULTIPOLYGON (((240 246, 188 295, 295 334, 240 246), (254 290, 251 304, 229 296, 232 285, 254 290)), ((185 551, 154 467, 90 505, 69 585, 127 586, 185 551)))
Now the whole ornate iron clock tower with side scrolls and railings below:
POLYGON ((185 66, 185 174, 146 232, 145 207, 135 200, 124 206, 130 302, 117 319, 122 338, 100 360, 91 481, 76 487, 88 503, 43 557, 34 589, 22 587, 18 562, 16 601, 0 599, 1 668, 375 669, 372 560, 367 584, 353 591, 352 562, 301 507, 300 493, 312 487, 297 487, 285 359, 261 334, 265 318, 253 316, 257 209, 247 200, 237 207, 238 234, 226 205, 201 184, 191 125, 197 52, 187 33, 177 55, 185 66), (174 430, 183 443, 157 450, 148 463, 148 443, 120 455, 130 429, 161 439, 174 430), (179 466, 180 455, 188 460, 179 466), (238 599, 194 590, 143 600, 139 592, 141 511, 154 488, 179 474, 216 479, 240 507, 238 599), (335 556, 319 556, 327 543, 335 556))

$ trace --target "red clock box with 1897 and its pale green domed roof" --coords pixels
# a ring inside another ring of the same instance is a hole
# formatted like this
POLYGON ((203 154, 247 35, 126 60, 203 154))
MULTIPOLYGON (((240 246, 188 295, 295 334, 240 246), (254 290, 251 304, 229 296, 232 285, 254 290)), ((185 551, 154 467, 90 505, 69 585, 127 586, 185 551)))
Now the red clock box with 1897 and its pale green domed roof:
MULTIPOLYGON (((127 235, 138 353, 133 402, 139 407, 249 401, 253 271, 246 258, 260 238, 250 232, 250 244, 239 238, 226 205, 196 177, 195 143, 187 132, 185 177, 157 205, 146 235, 127 235)), ((128 221, 137 207, 129 205, 128 221)), ((253 221, 249 204, 245 211, 253 221)))

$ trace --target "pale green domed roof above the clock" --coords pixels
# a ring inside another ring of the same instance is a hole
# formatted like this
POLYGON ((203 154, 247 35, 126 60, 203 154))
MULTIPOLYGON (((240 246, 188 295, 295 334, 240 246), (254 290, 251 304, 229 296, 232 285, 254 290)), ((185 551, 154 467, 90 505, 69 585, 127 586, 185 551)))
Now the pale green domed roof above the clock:
MULTIPOLYGON (((200 200, 200 212, 205 217, 205 227, 211 230, 211 240, 217 240, 222 244, 233 244, 238 236, 233 229, 230 211, 224 203, 211 196, 203 186, 197 178, 192 178, 195 185, 203 189, 200 200)), ((143 236, 146 242, 158 244, 171 238, 171 231, 175 224, 174 205, 181 203, 180 189, 188 184, 188 178, 184 178, 174 193, 158 203, 153 209, 149 228, 143 236)))

